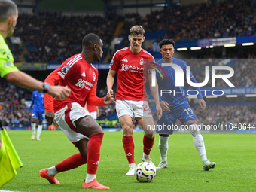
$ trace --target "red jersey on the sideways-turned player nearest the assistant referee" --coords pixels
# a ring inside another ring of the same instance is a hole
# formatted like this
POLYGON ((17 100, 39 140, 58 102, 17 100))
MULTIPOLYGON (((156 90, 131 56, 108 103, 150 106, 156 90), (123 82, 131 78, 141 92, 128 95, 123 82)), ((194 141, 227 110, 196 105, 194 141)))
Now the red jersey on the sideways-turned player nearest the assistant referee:
POLYGON ((84 107, 88 93, 97 86, 99 72, 92 64, 84 60, 82 53, 66 59, 55 71, 62 80, 61 86, 68 86, 72 90, 67 99, 54 99, 54 111, 59 111, 69 102, 78 102, 84 107))

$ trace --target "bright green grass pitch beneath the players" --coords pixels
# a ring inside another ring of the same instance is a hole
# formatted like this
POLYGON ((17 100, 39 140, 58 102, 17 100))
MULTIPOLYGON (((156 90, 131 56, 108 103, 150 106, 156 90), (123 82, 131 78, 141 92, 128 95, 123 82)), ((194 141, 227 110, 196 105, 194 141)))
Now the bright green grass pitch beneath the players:
MULTIPOLYGON (((87 166, 80 166, 56 175, 60 185, 49 184, 39 177, 39 170, 59 163, 77 148, 61 131, 43 131, 41 141, 32 141, 30 131, 8 131, 23 168, 1 190, 14 191, 84 191, 82 184, 87 166)), ((136 164, 141 162, 143 133, 133 133, 136 164)), ((217 166, 209 172, 194 147, 190 133, 169 137, 167 169, 158 169, 151 183, 139 183, 135 176, 126 176, 128 163, 123 151, 122 133, 105 132, 97 180, 111 191, 253 191, 255 190, 255 134, 203 133, 207 156, 217 166)), ((155 165, 160 163, 158 136, 151 151, 155 165)))

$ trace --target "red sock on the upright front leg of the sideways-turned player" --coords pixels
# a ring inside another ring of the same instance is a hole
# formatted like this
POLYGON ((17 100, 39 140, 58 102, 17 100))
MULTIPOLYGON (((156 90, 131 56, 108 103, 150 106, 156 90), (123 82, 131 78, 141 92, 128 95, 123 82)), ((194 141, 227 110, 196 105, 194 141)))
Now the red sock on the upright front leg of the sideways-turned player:
POLYGON ((103 132, 94 133, 87 144, 87 173, 96 174, 99 165, 100 147, 102 145, 103 132))

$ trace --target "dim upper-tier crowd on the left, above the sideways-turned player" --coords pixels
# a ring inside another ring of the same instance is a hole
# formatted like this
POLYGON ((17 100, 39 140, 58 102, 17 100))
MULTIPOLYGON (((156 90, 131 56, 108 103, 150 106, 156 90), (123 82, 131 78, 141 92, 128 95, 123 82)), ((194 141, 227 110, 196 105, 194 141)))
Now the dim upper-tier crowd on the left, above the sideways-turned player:
MULTIPOLYGON (((116 20, 96 15, 68 17, 56 12, 41 12, 39 17, 20 14, 14 34, 26 44, 20 48, 23 49, 26 62, 63 62, 69 56, 81 52, 81 39, 90 32, 102 38, 105 50, 116 25, 116 20)), ((20 53, 20 49, 16 53, 20 53)), ((15 60, 20 61, 18 57, 15 60)))

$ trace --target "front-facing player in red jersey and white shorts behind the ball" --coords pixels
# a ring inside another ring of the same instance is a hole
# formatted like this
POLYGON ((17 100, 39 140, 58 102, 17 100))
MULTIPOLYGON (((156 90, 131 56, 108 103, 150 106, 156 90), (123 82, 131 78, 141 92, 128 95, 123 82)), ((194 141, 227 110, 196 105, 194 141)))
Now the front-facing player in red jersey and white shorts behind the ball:
MULTIPOLYGON (((123 127, 123 148, 129 162, 129 171, 126 175, 134 175, 134 143, 133 143, 133 118, 135 118, 145 135, 143 138, 142 161, 151 162, 150 152, 154 145, 154 130, 148 127, 154 125, 152 114, 148 106, 147 93, 145 93, 145 82, 151 80, 151 72, 147 60, 154 62, 153 56, 142 49, 145 40, 145 31, 142 26, 133 26, 130 29, 130 47, 117 50, 114 54, 107 77, 108 94, 113 94, 114 76, 117 74, 117 93, 115 95, 116 111, 123 127), (143 72, 148 74, 143 75, 143 72), (150 125, 150 126, 148 126, 150 125)), ((156 103, 158 118, 162 116, 162 109, 158 98, 158 87, 152 87, 151 93, 156 103)))

